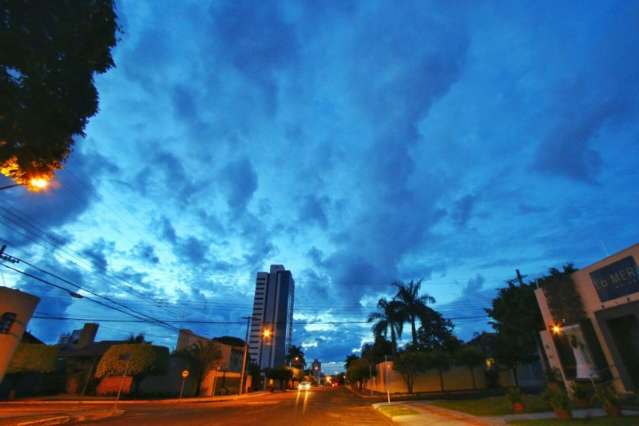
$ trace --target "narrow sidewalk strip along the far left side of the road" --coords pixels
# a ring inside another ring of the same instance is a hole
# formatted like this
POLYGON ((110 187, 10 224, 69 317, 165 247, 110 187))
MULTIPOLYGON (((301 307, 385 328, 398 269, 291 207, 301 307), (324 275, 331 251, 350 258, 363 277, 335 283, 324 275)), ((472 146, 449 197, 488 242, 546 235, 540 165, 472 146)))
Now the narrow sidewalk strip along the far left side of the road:
MULTIPOLYGON (((190 404, 201 402, 218 402, 218 401, 234 401, 238 399, 254 398, 262 395, 267 395, 270 392, 251 392, 242 395, 219 395, 219 396, 207 396, 196 398, 171 398, 171 399, 132 399, 132 400, 120 400, 118 405, 133 405, 133 404, 190 404)), ((72 396, 70 396, 72 397, 72 396)), ((0 408, 7 406, 19 406, 19 405, 40 405, 40 404, 87 404, 87 405, 113 405, 115 398, 113 397, 88 397, 78 399, 66 399, 64 397, 49 397, 49 398, 29 398, 14 401, 0 401, 0 408)))

